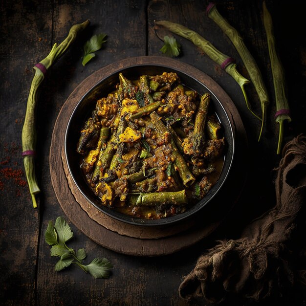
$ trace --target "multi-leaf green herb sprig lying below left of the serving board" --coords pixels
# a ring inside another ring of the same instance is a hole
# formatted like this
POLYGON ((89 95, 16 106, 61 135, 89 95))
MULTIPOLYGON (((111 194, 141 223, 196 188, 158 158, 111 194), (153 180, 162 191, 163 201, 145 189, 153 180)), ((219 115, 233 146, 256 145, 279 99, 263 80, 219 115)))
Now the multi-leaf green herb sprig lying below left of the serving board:
POLYGON ((72 237, 73 232, 63 217, 58 217, 54 226, 53 222, 49 221, 44 233, 44 240, 52 246, 51 256, 60 257, 60 260, 55 264, 55 271, 61 271, 74 263, 94 278, 108 278, 109 270, 113 265, 106 258, 95 258, 89 264, 83 264, 82 261, 87 257, 85 249, 82 248, 75 252, 66 245, 66 242, 72 237))

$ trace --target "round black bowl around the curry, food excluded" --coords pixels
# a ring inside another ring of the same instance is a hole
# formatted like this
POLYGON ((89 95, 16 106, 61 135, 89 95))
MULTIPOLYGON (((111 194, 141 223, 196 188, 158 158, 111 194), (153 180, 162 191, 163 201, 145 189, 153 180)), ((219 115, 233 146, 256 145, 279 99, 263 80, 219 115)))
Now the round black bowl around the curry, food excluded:
MULTIPOLYGON (((133 58, 132 58, 133 59, 133 58)), ((134 58, 137 59, 137 58, 134 58)), ((138 224, 143 226, 159 226, 165 224, 173 224, 174 222, 182 221, 183 219, 195 216, 199 210, 210 202, 217 193, 222 192, 222 185, 224 184, 227 175, 231 169, 233 157, 234 157, 234 131, 229 120, 228 114, 222 105, 222 101, 218 99, 218 93, 213 92, 211 88, 220 88, 217 83, 210 79, 203 72, 197 70, 194 67, 180 63, 176 60, 164 58, 164 57, 141 57, 141 61, 131 60, 122 61, 118 63, 118 70, 110 69, 110 74, 100 79, 97 83, 92 84, 92 87, 87 93, 80 99, 75 109, 73 110, 65 135, 65 153, 68 169, 72 179, 74 180, 79 191, 87 198, 91 205, 97 207, 104 214, 111 218, 120 220, 122 222, 130 224, 138 224), (139 63, 138 63, 139 62, 139 63), (111 71, 112 70, 112 71, 111 71), (208 194, 200 200, 197 204, 189 208, 186 212, 168 217, 165 219, 147 220, 147 219, 135 219, 131 216, 124 215, 115 210, 109 209, 101 204, 100 199, 94 195, 92 190, 87 185, 87 182, 80 169, 80 154, 76 152, 77 142, 79 140, 80 131, 83 123, 91 114, 91 111, 95 108, 96 100, 102 96, 106 96, 112 91, 115 85, 119 82, 118 74, 122 72, 127 78, 134 79, 137 76, 147 74, 156 75, 163 72, 176 72, 180 77, 182 84, 197 91, 200 95, 205 92, 211 94, 211 103, 214 105, 214 109, 219 117, 219 120, 223 127, 224 136, 226 139, 226 151, 225 160, 222 171, 220 173, 217 183, 212 187, 208 194), (204 76, 204 78, 199 76, 204 76), (199 80, 201 79, 201 81, 199 80), (204 80, 204 81, 203 81, 204 80), (204 84, 205 80, 209 80, 209 85, 204 84), (213 84, 213 86, 210 86, 213 84)), ((89 77, 90 78, 90 77, 89 77)), ((222 90, 220 88, 220 90, 222 90)))

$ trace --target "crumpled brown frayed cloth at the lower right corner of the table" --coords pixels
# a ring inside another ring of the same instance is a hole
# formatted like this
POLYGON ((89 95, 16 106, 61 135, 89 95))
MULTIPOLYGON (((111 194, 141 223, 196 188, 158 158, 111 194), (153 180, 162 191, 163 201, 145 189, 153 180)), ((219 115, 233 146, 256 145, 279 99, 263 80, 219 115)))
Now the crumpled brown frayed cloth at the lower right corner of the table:
POLYGON ((297 271, 290 265, 290 239, 306 199, 306 136, 286 144, 276 171, 276 205, 252 221, 240 239, 218 241, 201 255, 179 286, 181 298, 218 303, 231 293, 259 301, 292 286, 297 271))

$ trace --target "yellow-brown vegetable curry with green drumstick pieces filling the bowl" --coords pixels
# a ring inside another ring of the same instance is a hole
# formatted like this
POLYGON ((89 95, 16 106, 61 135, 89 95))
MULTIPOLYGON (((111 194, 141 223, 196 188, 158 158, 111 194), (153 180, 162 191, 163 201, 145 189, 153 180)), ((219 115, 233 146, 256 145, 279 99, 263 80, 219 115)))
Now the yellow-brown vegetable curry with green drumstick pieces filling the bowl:
POLYGON ((103 207, 136 219, 186 212, 218 181, 226 139, 210 93, 175 72, 118 74, 79 134, 87 185, 103 207))

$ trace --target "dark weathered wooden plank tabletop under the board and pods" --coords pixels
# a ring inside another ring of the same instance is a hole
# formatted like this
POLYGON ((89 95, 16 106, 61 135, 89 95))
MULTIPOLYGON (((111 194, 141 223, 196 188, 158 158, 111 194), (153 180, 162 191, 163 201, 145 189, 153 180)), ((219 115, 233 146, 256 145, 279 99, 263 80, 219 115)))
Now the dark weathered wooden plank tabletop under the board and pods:
MULTIPOLYGON (((211 76, 228 93, 244 123, 249 146, 249 177, 239 203, 225 222, 209 238, 187 250, 155 258, 133 257, 105 249, 89 240, 73 224, 75 249, 85 247, 88 259, 106 257, 114 269, 107 280, 93 279, 76 267, 54 271, 44 231, 49 220, 65 217, 53 191, 49 172, 49 148, 58 113, 69 94, 87 76, 114 61, 133 56, 161 55, 162 42, 154 31, 154 20, 182 23, 210 40, 224 53, 240 57, 205 14, 201 0, 79 0, 2 1, 0 5, 0 304, 1 305, 187 305, 177 289, 183 276, 194 267, 200 254, 215 240, 236 238, 243 226, 274 203, 272 169, 276 155, 278 125, 273 116, 275 102, 265 32, 262 1, 218 1, 219 11, 245 39, 261 68, 269 90, 266 128, 257 142, 259 121, 247 110, 234 80, 191 42, 176 36, 182 46, 177 61, 190 64, 211 76), (41 87, 37 107, 36 169, 41 194, 39 208, 33 209, 25 184, 21 157, 21 131, 32 67, 42 60, 55 42, 62 41, 74 23, 90 19, 71 49, 48 72, 41 87), (96 58, 83 67, 82 46, 92 34, 105 32, 108 41, 96 58), (260 191, 260 192, 255 192, 260 191)), ((285 125, 284 142, 305 132, 306 120, 306 9, 303 1, 267 1, 275 25, 275 37, 284 64, 292 123, 285 125)), ((169 34, 158 30, 159 36, 169 34)), ((253 109, 260 112, 254 88, 247 92, 253 109)), ((226 197, 224 198, 226 200, 226 197)), ((67 219, 69 222, 69 220, 67 219)), ((244 301, 236 301, 235 305, 244 301)), ((290 305, 302 305, 296 297, 290 305)), ((203 301, 200 305, 205 305, 203 301)), ((234 305, 234 304, 232 304, 234 305)), ((244 304, 249 305, 249 304, 244 304)), ((286 304, 288 305, 288 304, 286 304)), ((305 304, 303 304, 305 305, 305 304)))

